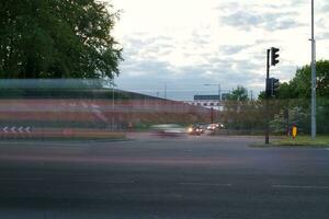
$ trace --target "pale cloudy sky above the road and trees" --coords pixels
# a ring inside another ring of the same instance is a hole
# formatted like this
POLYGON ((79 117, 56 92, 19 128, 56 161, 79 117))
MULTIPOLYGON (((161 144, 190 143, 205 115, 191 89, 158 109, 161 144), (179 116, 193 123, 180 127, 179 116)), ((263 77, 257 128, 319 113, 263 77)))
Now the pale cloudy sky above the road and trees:
MULTIPOLYGON (((120 89, 192 100, 216 94, 216 84, 222 92, 243 85, 257 96, 264 90, 268 48, 281 49, 271 68, 281 81, 310 62, 310 0, 109 2, 121 10, 112 33, 124 49, 120 89)), ((329 1, 315 2, 317 59, 329 59, 329 1)))

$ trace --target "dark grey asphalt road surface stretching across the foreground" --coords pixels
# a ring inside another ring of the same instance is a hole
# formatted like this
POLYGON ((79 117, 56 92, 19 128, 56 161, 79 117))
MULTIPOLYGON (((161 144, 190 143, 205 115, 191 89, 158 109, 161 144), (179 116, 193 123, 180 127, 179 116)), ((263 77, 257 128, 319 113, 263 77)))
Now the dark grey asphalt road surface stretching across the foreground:
POLYGON ((258 138, 0 142, 0 218, 329 218, 329 150, 258 138))

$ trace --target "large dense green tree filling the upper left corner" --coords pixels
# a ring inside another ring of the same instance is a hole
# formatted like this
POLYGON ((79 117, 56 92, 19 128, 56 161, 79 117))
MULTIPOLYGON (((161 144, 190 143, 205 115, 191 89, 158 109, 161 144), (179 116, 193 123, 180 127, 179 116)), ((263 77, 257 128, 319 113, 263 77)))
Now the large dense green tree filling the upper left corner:
POLYGON ((0 78, 113 78, 118 12, 95 0, 0 3, 0 78))

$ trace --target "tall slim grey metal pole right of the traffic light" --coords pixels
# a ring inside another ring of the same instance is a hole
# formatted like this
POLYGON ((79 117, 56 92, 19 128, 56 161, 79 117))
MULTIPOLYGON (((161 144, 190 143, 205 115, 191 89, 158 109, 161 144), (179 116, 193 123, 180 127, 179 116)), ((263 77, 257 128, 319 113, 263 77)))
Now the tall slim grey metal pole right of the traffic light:
POLYGON ((316 120, 316 41, 314 37, 314 0, 311 0, 311 139, 316 139, 317 120, 316 120))

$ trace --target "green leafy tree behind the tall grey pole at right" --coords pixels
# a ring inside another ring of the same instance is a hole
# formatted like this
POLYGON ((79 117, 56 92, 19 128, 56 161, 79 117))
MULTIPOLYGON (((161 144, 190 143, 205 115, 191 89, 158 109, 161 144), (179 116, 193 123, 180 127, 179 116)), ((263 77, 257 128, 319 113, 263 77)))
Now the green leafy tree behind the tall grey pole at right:
MULTIPOLYGON (((310 88, 311 88, 311 70, 306 65, 296 70, 295 77, 290 81, 282 83, 279 89, 276 99, 276 110, 287 111, 288 114, 298 108, 296 124, 303 132, 310 130, 310 88)), ((317 131, 328 134, 329 127, 329 60, 317 61, 317 131)), ((264 100, 264 92, 259 95, 260 100, 264 100)), ((283 115, 276 114, 276 122, 283 119, 283 115)), ((275 120, 275 119, 274 119, 275 120)))

